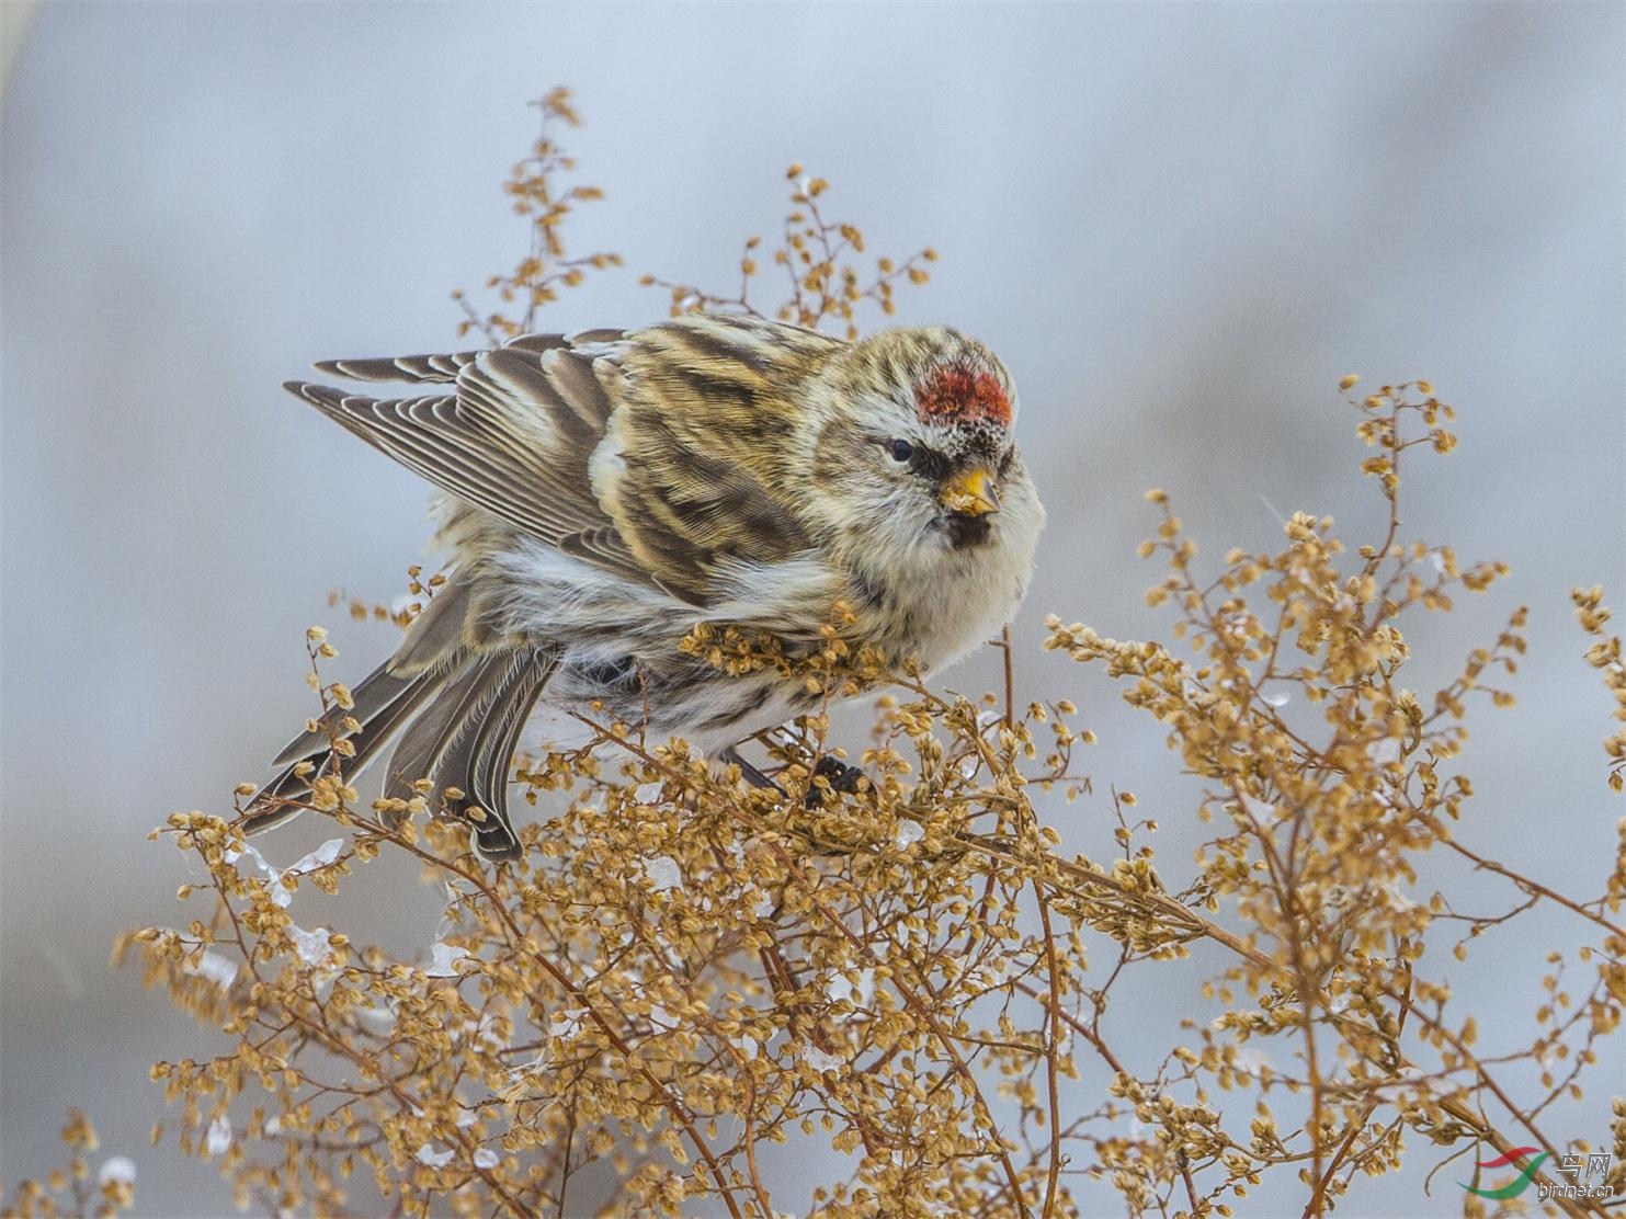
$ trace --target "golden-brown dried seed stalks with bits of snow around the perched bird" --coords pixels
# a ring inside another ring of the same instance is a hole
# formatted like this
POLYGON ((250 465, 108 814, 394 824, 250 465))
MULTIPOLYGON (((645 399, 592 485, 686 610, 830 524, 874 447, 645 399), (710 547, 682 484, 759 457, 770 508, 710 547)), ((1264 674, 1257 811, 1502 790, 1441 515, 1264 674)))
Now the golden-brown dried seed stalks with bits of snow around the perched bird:
MULTIPOLYGON (((829 232, 813 185, 798 187, 810 219, 790 224, 829 232)), ((545 245, 561 267, 556 221, 545 245)), ((863 293, 836 260, 862 237, 806 241, 787 239, 785 262, 823 270, 795 273, 790 317, 850 327, 863 293)), ((528 270, 499 284, 535 283, 528 270)), ((673 288, 675 306, 750 309, 745 286, 732 301, 673 288)), ((1447 453, 1452 410, 1424 382, 1350 403, 1382 536, 1351 549, 1299 514, 1280 551, 1200 572, 1171 497, 1151 492, 1161 523, 1143 549, 1167 570, 1148 600, 1172 611, 1171 642, 1049 621, 1044 647, 1119 683, 1202 780, 1193 809, 1161 818, 1215 826, 1195 861, 1159 857, 1158 821, 1128 792, 1111 798, 1112 858, 1062 850, 1044 809, 1091 788, 1094 738, 1072 702, 1020 697, 1008 637, 1003 689, 971 701, 849 645, 841 605, 811 657, 720 623, 685 645, 737 673, 875 692, 854 759, 867 782, 831 790, 816 769, 836 751, 823 714, 764 735, 776 788, 589 715, 589 748, 519 766, 546 809, 525 857, 494 871, 428 785, 369 805, 319 779, 311 808, 335 837, 288 868, 228 818, 172 816, 163 834, 203 878, 180 896, 205 909, 120 954, 228 1040, 154 1068, 180 1152, 213 1157, 239 1204, 333 1216, 1052 1216, 1078 1214, 1086 1182, 1130 1214, 1208 1216, 1267 1175, 1296 1180, 1314 1216, 1406 1151, 1468 1177, 1483 1193, 1450 1206, 1470 1214, 1512 1196, 1494 1170, 1462 1167, 1498 1157, 1524 1162, 1519 1188, 1548 1206, 1602 1214, 1626 1186, 1626 1102, 1606 1149, 1548 1126, 1618 1037, 1626 834, 1598 894, 1494 858, 1457 766, 1467 720, 1512 702, 1524 611, 1444 686, 1408 686, 1403 627, 1502 569, 1400 538, 1402 460, 1410 478, 1423 452, 1447 453), (1424 887, 1429 852, 1463 860, 1467 879, 1424 887), (361 866, 444 891, 420 956, 301 925, 301 891, 333 892, 361 866), (1483 1013, 1446 972, 1537 909, 1569 920, 1572 948, 1532 978, 1525 1030, 1498 1011, 1483 1045, 1483 1013), (1122 998, 1135 975, 1200 980, 1221 1014, 1148 1058, 1122 998), (1086 1094, 1086 1071, 1106 1086, 1086 1094), (831 1178, 787 1198, 777 1144, 823 1147, 831 1178), (1587 1154, 1597 1190, 1566 1193, 1587 1154)), ((413 572, 415 595, 431 585, 413 572)), ((1626 718, 1602 592, 1574 596, 1626 718)), ((307 655, 320 710, 343 705, 320 629, 307 655)), ((1619 790, 1626 733, 1606 751, 1619 790)))

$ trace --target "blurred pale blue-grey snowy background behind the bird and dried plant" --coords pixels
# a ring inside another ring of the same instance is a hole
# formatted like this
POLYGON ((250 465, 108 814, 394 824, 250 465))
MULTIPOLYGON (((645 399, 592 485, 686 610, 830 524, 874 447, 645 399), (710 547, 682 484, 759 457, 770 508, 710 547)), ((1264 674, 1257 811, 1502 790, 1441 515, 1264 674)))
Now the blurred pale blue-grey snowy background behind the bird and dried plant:
MULTIPOLYGON (((0 1173, 55 1164, 70 1104, 140 1170, 141 1214, 205 1216, 203 1164, 146 1146, 148 1065, 205 1053, 137 970, 120 928, 177 907, 179 855, 145 834, 224 809, 311 709, 301 632, 333 627, 335 676, 392 647, 327 606, 403 590, 426 491, 278 382, 312 359, 455 346, 447 293, 524 241, 498 184, 533 137, 525 101, 576 89, 574 249, 628 268, 543 314, 637 325, 654 271, 728 288, 740 241, 777 229, 784 167, 834 182, 872 249, 943 252, 901 320, 987 340, 1023 390, 1050 509, 1016 636, 1026 696, 1075 696, 1182 873, 1202 831, 1156 725, 1037 652, 1047 611, 1119 637, 1164 631, 1135 559, 1169 488, 1210 556, 1273 548, 1276 512, 1379 520, 1335 382, 1431 377, 1460 450, 1413 463, 1405 533, 1501 557, 1514 577, 1415 623, 1415 681, 1444 678, 1532 606, 1520 705, 1478 717, 1468 829, 1571 891, 1606 871, 1618 801, 1608 701, 1567 590, 1626 610, 1623 46, 1610 5, 41 5, 5 83, 3 835, 0 1173)), ((1361 530, 1366 535, 1361 535, 1361 530)), ((985 689, 995 658, 945 684, 985 689)), ((1054 806, 1106 850, 1102 800, 1054 806)), ((307 822, 314 819, 306 819, 307 822)), ((325 835, 265 845, 288 863, 325 835)), ((1441 861, 1444 865, 1444 861, 1441 861)), ((369 868, 348 913, 307 925, 428 943, 433 892, 369 868)), ((1485 902, 1506 891, 1485 884, 1485 902)), ((1576 933, 1528 920, 1447 970, 1483 1043, 1530 1027, 1538 964, 1576 933)), ((1119 1035, 1205 1009, 1127 987, 1119 1035)), ((1182 985, 1185 987, 1182 990, 1182 985)), ((1605 1136, 1626 1045, 1561 1139, 1605 1136)), ((1089 1065, 1080 1108, 1104 1078, 1089 1065)), ((1244 1104, 1231 1097, 1231 1104, 1244 1104)), ((1418 1149, 1351 1214, 1454 1214, 1418 1149)), ((816 1164, 782 1203, 802 1208, 816 1164)), ((1449 1173, 1447 1173, 1449 1175, 1449 1173)), ((1283 1182, 1252 1214, 1298 1214, 1283 1182)), ((1083 1185, 1089 1214, 1114 1195, 1083 1185)))

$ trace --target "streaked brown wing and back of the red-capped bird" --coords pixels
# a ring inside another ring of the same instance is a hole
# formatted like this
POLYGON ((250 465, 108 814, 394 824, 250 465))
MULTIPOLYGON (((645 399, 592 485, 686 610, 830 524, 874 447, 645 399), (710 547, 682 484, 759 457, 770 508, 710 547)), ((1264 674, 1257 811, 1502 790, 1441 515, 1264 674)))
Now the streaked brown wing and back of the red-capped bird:
MULTIPOLYGON (((785 328, 789 330, 789 328, 785 328)), ((771 323, 527 335, 493 351, 341 359, 324 372, 452 384, 379 400, 286 388, 402 465, 515 528, 704 605, 719 572, 803 553, 808 536, 763 452, 787 421, 764 387, 771 323)), ((795 332, 806 358, 839 346, 795 332)), ((798 346, 800 345, 800 346, 798 346)))

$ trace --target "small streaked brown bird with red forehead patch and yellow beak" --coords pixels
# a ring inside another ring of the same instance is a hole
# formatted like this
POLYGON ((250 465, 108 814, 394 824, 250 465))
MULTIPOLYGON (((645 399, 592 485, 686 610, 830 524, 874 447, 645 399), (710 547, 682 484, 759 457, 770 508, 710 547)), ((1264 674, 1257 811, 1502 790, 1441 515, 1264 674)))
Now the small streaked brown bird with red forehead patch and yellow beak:
POLYGON ((314 367, 416 387, 285 384, 437 488, 449 569, 353 705, 276 756, 250 834, 306 808, 315 775, 348 780, 393 746, 385 795, 429 780, 504 863, 522 853, 507 788, 527 725, 563 748, 595 707, 712 756, 823 701, 685 650, 698 627, 815 649, 846 603, 844 637, 932 671, 1010 621, 1033 575, 1044 507, 1015 384, 948 327, 839 340, 691 314, 314 367))

